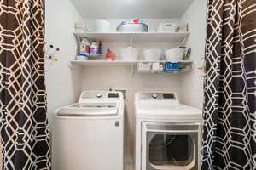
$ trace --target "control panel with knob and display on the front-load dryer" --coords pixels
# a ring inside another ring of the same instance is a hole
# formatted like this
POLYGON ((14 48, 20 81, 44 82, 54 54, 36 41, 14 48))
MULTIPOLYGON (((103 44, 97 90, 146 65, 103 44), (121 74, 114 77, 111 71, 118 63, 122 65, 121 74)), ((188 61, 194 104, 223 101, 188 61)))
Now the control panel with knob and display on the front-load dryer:
POLYGON ((177 100, 176 95, 173 93, 154 93, 154 92, 140 93, 138 96, 138 99, 177 100))

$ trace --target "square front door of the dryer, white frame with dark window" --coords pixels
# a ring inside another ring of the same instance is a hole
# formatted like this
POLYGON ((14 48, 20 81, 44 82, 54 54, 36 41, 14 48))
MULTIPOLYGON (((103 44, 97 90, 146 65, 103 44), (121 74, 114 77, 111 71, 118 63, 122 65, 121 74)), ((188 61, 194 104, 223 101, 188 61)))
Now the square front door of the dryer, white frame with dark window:
POLYGON ((198 168, 200 123, 143 122, 142 170, 198 168))

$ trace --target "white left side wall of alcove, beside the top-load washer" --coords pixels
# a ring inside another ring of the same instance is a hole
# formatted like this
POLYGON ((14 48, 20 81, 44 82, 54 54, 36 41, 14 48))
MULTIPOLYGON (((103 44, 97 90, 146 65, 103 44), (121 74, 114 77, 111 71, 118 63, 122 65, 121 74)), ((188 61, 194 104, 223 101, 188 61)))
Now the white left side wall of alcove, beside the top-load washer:
MULTIPOLYGON (((60 48, 56 56, 60 61, 51 65, 46 61, 46 90, 50 127, 54 129, 54 111, 56 108, 77 100, 81 87, 81 71, 70 69, 68 64, 76 53, 76 42, 73 37, 74 22, 82 20, 76 8, 69 0, 45 1, 45 40, 60 48)), ((53 135, 53 143, 57 140, 53 135)), ((55 146, 53 145, 53 156, 55 146)), ((55 169, 55 158, 53 158, 55 169)))

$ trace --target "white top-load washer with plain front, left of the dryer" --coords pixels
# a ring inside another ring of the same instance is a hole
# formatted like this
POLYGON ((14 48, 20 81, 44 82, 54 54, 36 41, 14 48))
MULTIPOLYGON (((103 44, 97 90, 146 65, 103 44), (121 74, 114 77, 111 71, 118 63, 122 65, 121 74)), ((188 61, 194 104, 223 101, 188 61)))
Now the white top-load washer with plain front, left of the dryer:
POLYGON ((56 170, 124 169, 123 94, 85 91, 55 116, 56 170))

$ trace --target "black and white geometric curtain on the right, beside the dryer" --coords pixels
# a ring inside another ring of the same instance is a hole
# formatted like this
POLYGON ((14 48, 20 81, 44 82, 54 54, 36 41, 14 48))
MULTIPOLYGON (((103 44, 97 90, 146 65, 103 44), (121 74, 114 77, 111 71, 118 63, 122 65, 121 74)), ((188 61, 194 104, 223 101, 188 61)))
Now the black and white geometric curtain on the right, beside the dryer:
POLYGON ((209 0, 202 170, 256 169, 256 1, 209 0))

